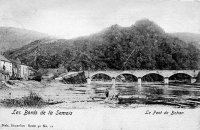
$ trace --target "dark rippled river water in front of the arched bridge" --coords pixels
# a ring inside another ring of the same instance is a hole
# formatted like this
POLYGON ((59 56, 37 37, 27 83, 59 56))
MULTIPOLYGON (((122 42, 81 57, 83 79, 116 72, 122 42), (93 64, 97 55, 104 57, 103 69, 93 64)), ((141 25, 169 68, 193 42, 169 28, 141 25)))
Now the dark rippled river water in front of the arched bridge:
POLYGON ((104 99, 105 90, 117 104, 159 104, 195 108, 200 104, 200 86, 191 84, 92 84, 89 86, 95 99, 104 99), (113 95, 119 95, 118 98, 113 95))

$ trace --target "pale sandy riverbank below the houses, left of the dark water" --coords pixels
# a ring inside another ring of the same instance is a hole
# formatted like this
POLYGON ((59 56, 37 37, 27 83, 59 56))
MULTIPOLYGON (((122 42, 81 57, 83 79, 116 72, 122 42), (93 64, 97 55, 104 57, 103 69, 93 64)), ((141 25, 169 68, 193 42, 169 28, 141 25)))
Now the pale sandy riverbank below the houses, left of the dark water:
MULTIPOLYGON (((48 105, 49 108, 93 108, 107 107, 104 99, 92 99, 90 90, 84 85, 70 85, 61 82, 37 82, 37 81, 11 81, 13 84, 1 86, 0 100, 19 99, 26 97, 30 92, 38 94, 47 102, 55 102, 48 105), (56 103, 57 102, 57 103, 56 103)), ((93 94, 94 95, 94 94, 93 94)), ((102 98, 105 98, 102 95, 102 98)), ((3 105, 1 104, 3 107, 3 105)))

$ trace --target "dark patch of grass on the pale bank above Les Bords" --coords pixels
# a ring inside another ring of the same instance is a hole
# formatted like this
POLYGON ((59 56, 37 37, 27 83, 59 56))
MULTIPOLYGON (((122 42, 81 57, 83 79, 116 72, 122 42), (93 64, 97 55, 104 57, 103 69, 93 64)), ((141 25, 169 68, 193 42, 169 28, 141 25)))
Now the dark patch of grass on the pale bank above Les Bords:
POLYGON ((30 92, 26 97, 18 99, 4 99, 1 103, 5 107, 44 107, 49 103, 44 101, 37 93, 30 92))

